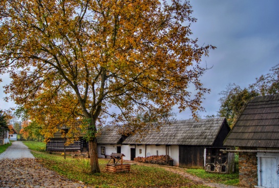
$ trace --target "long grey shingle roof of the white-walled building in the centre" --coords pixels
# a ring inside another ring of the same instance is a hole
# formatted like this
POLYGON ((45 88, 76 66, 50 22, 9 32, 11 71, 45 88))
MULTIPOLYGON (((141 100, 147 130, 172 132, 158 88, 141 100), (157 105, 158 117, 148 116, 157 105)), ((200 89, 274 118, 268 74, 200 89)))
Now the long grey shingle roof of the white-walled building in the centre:
POLYGON ((211 146, 225 121, 225 118, 174 121, 162 125, 160 131, 152 130, 143 138, 138 134, 129 136, 123 144, 211 146))

